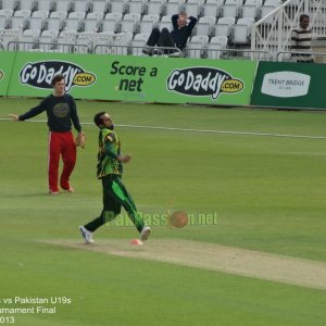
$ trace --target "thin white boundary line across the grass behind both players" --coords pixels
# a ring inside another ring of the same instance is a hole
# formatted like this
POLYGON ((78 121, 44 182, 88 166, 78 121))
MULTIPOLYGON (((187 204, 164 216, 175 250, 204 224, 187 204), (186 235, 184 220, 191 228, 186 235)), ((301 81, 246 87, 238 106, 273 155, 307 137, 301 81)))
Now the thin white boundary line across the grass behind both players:
MULTIPOLYGON (((10 121, 10 118, 0 118, 0 121, 10 121)), ((47 121, 28 120, 32 123, 47 123, 47 121)), ((92 123, 80 123, 82 125, 93 125, 92 123)), ((141 125, 116 125, 123 128, 136 129, 153 129, 153 130, 170 130, 170 131, 185 131, 185 133, 200 133, 200 134, 222 134, 222 135, 237 135, 237 136, 262 136, 262 137, 284 137, 284 138, 304 138, 304 139, 326 139, 326 136, 310 136, 310 135, 290 135, 290 134, 273 134, 273 133, 252 133, 252 131, 236 131, 236 130, 205 130, 193 128, 177 128, 177 127, 155 127, 141 125)))

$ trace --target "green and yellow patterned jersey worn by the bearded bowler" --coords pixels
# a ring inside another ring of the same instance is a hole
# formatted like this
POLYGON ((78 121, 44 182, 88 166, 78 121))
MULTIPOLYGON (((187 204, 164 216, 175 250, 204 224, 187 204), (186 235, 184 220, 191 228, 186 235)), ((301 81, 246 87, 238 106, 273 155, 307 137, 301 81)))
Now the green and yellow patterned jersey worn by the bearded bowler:
POLYGON ((122 164, 117 161, 121 154, 121 142, 117 135, 108 128, 99 133, 99 153, 97 176, 102 178, 108 174, 122 175, 122 164))

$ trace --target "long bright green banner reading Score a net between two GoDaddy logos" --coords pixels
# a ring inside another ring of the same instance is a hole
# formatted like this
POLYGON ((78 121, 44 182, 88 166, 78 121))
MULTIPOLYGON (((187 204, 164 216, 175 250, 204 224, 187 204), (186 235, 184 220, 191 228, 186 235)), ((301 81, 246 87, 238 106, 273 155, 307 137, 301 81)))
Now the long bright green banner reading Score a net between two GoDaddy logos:
MULTIPOLYGON (((62 73, 76 99, 248 105, 256 62, 15 53, 8 96, 43 97, 62 73)), ((0 52, 2 62, 2 53, 0 52)))

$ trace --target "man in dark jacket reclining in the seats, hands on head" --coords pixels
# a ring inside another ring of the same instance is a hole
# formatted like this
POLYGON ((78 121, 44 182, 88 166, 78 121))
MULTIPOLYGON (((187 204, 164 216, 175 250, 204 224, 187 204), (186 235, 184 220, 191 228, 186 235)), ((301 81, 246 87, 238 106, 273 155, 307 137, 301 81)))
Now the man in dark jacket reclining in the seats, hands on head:
POLYGON ((152 29, 152 33, 147 41, 146 54, 153 54, 153 47, 177 48, 164 49, 164 54, 179 53, 187 45, 187 40, 197 23, 197 17, 188 17, 187 13, 181 12, 172 16, 173 30, 167 28, 160 30, 158 27, 152 29), (189 23, 187 22, 189 21, 189 23))

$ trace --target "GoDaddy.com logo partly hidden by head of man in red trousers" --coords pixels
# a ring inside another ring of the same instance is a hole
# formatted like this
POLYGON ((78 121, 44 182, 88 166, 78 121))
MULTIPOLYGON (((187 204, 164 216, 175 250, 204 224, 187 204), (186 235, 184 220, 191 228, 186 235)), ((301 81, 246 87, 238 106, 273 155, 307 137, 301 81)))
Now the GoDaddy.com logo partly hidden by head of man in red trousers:
POLYGON ((85 72, 80 66, 66 61, 29 62, 20 72, 22 84, 37 88, 52 88, 53 76, 62 74, 65 79, 65 91, 73 86, 89 86, 96 82, 92 73, 85 72))

